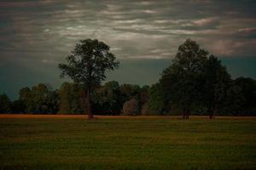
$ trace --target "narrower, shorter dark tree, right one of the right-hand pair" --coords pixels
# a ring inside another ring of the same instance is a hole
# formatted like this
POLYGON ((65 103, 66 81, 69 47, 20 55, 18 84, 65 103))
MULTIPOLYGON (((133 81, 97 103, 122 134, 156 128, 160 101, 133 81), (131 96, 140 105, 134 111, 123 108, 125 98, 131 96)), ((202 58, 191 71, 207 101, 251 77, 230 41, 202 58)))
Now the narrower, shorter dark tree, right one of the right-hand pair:
POLYGON ((221 61, 217 57, 210 55, 205 64, 204 86, 201 88, 203 91, 202 101, 207 107, 210 119, 215 117, 220 105, 223 104, 230 81, 230 74, 221 65, 221 61))

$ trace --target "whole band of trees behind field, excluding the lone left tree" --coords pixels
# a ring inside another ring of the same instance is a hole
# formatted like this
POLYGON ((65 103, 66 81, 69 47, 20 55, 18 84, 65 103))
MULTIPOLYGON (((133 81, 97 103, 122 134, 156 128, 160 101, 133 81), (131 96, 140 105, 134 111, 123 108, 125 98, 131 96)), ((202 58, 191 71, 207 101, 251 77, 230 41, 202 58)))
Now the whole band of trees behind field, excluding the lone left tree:
MULTIPOLYGON (((232 79, 217 57, 190 39, 179 46, 159 82, 140 87, 112 81, 93 88, 96 115, 256 115, 256 81, 232 79)), ((0 113, 85 114, 86 92, 73 82, 55 90, 40 83, 21 88, 15 101, 0 95, 0 113)))

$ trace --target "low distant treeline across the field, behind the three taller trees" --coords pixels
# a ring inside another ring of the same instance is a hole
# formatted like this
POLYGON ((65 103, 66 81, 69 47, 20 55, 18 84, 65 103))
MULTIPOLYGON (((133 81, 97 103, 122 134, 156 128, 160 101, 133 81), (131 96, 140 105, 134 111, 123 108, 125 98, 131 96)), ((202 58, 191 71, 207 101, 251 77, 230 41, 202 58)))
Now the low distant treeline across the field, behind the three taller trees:
MULTIPOLYGON (((238 77, 235 80, 230 79, 228 83, 216 115, 255 116, 256 81, 252 78, 238 77)), ((96 88, 96 93, 92 95, 93 113, 131 116, 182 114, 183 110, 175 107, 174 102, 167 99, 172 97, 168 96, 162 86, 161 82, 151 87, 106 82, 96 88)), ((207 98, 208 94, 205 95, 198 97, 207 98)), ((40 83, 32 88, 21 88, 19 99, 15 101, 11 101, 6 94, 0 95, 0 113, 84 114, 85 96, 84 88, 73 82, 64 82, 60 89, 55 90, 40 83)), ((195 100, 190 113, 209 115, 211 111, 203 105, 207 102, 209 101, 206 99, 195 100)))

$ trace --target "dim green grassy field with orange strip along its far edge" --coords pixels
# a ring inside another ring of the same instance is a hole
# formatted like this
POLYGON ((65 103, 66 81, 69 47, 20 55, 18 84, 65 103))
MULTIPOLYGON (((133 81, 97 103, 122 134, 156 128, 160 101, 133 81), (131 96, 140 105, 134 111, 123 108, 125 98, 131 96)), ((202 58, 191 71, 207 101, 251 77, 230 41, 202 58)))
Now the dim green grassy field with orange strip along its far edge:
POLYGON ((0 116, 0 169, 256 169, 256 118, 0 116))

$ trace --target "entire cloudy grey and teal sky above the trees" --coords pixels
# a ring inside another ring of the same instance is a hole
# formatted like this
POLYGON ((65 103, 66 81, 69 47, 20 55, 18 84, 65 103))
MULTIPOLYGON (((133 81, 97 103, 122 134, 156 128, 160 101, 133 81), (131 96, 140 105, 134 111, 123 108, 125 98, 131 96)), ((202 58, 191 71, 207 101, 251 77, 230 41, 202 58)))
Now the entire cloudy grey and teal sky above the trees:
POLYGON ((81 39, 107 43, 120 61, 107 81, 153 84, 191 38, 232 77, 256 78, 255 0, 1 0, 0 94, 39 82, 59 88, 57 65, 81 39))

